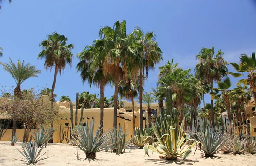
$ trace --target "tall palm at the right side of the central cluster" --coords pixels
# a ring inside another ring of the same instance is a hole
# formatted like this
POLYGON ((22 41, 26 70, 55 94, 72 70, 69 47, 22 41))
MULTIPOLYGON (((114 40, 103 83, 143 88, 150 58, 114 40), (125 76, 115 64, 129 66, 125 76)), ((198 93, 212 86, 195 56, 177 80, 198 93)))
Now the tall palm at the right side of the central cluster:
POLYGON ((140 75, 140 89, 139 89, 139 103, 140 103, 140 128, 143 128, 142 120, 142 95, 143 95, 143 80, 148 77, 148 69, 155 69, 155 64, 163 60, 162 51, 155 41, 156 35, 153 32, 143 33, 137 27, 132 32, 136 38, 137 54, 141 57, 139 64, 140 75), (146 72, 146 74, 144 74, 146 72), (143 77, 145 75, 145 77, 143 77))

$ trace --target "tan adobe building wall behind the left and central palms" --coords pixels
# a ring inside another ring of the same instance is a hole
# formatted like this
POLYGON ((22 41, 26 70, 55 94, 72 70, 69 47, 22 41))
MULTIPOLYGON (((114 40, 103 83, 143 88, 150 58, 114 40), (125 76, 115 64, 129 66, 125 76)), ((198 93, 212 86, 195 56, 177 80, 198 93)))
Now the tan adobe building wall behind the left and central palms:
MULTIPOLYGON (((46 104, 50 104, 49 96, 43 96, 44 102, 46 104)), ((54 123, 53 127, 55 128, 55 132, 53 134, 53 142, 54 143, 67 143, 65 140, 65 134, 67 137, 69 137, 70 132, 69 126, 71 126, 71 119, 70 119, 70 108, 67 107, 70 106, 70 103, 68 102, 57 102, 54 103, 54 107, 59 110, 59 119, 54 123), (65 126, 66 124, 66 126, 65 126), (67 134, 68 133, 68 134, 67 134)), ((108 132, 109 130, 113 129, 113 108, 104 108, 104 127, 103 132, 108 132)), ((75 123, 75 107, 73 106, 72 112, 73 112, 73 123, 75 123)), ((132 120, 132 113, 126 113, 125 109, 119 109, 117 110, 117 126, 121 126, 122 129, 125 129, 126 132, 128 132, 128 138, 131 138, 133 135, 133 120, 132 120)), ((135 112, 135 126, 140 126, 140 112, 135 112)), ((78 123, 80 122, 81 117, 81 109, 78 109, 77 119, 78 123)), ((96 132, 97 126, 99 125, 100 121, 100 109, 94 108, 94 109, 84 109, 83 112, 83 119, 82 123, 84 123, 86 120, 88 120, 88 123, 94 119, 95 120, 95 127, 94 132, 96 132)), ((10 117, 7 117, 4 114, 1 114, 1 119, 7 119, 10 117)), ((143 120, 143 126, 145 126, 145 120, 143 120)), ((32 132, 34 132, 32 130, 32 132)), ((32 133, 31 132, 31 133, 32 133)), ((12 129, 7 129, 6 133, 1 138, 1 141, 9 141, 8 137, 11 137, 12 129)), ((17 135, 18 138, 23 140, 24 135, 24 129, 17 129, 17 135)))

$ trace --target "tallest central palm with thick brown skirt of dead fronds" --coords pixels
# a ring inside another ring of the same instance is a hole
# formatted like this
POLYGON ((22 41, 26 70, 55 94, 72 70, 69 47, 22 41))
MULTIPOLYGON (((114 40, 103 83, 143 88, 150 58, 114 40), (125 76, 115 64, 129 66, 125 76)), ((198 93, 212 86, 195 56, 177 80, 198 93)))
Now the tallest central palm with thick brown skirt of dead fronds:
POLYGON ((103 74, 108 74, 114 82, 114 120, 117 126, 118 86, 120 80, 127 80, 128 74, 137 72, 140 57, 136 54, 133 35, 126 33, 126 21, 116 21, 113 29, 104 26, 99 30, 99 37, 104 39, 107 57, 103 63, 103 74))

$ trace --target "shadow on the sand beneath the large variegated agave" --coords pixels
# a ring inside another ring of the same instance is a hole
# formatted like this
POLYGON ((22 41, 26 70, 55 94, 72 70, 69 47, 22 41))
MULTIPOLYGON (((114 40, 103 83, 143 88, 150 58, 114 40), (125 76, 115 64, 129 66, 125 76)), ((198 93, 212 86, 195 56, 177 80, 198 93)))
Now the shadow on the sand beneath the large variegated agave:
POLYGON ((199 161, 201 161, 201 160, 166 160, 164 158, 160 158, 160 159, 147 159, 146 160, 146 162, 148 162, 148 163, 154 163, 154 164, 158 164, 158 165, 172 164, 172 163, 175 163, 177 165, 183 165, 183 164, 193 165, 193 163, 199 162, 199 161))

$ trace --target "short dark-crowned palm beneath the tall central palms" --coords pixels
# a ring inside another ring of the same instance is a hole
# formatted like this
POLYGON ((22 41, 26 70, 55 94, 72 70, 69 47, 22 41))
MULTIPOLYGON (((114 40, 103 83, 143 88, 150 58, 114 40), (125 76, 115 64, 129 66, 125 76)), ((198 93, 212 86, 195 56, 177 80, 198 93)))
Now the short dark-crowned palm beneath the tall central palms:
POLYGON ((127 100, 131 99, 132 103, 132 117, 133 117, 133 129, 135 129, 135 110, 134 110, 134 98, 138 96, 138 84, 134 82, 131 78, 126 81, 120 81, 119 83, 119 94, 122 99, 124 97, 127 100))

